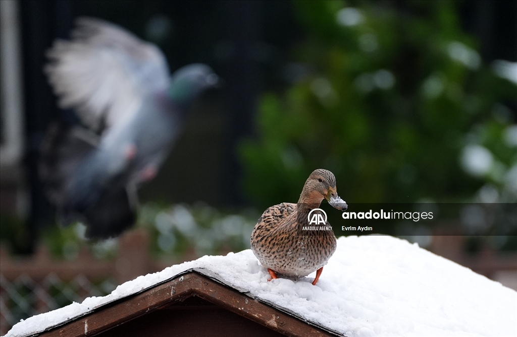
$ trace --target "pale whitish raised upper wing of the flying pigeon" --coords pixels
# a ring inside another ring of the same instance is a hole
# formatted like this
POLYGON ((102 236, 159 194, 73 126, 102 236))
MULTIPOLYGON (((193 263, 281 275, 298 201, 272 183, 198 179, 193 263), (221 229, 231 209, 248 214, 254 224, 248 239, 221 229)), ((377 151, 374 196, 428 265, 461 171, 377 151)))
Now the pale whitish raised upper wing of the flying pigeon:
POLYGON ((168 86, 169 69, 154 44, 93 18, 80 18, 72 40, 57 40, 45 68, 62 108, 94 130, 130 118, 149 92, 168 86))

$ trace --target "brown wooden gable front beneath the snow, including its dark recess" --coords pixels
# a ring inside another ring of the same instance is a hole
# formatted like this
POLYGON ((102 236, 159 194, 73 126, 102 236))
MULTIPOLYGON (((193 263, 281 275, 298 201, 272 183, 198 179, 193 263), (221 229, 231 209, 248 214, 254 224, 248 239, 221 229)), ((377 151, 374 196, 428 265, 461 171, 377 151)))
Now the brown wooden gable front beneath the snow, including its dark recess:
POLYGON ((273 303, 242 294, 217 274, 194 268, 163 283, 37 334, 54 336, 336 335, 273 303))

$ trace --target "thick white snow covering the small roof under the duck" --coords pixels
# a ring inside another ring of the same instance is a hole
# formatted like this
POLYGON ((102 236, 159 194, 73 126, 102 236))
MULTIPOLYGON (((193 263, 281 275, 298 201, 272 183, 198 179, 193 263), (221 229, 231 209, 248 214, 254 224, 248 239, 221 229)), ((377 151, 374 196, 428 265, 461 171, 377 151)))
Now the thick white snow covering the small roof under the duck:
POLYGON ((102 304, 170 279, 190 268, 206 268, 227 284, 275 303, 346 336, 516 336, 517 292, 390 236, 348 236, 323 270, 310 277, 275 279, 248 249, 203 256, 118 286, 110 295, 30 317, 6 336, 27 336, 77 317, 102 304))

